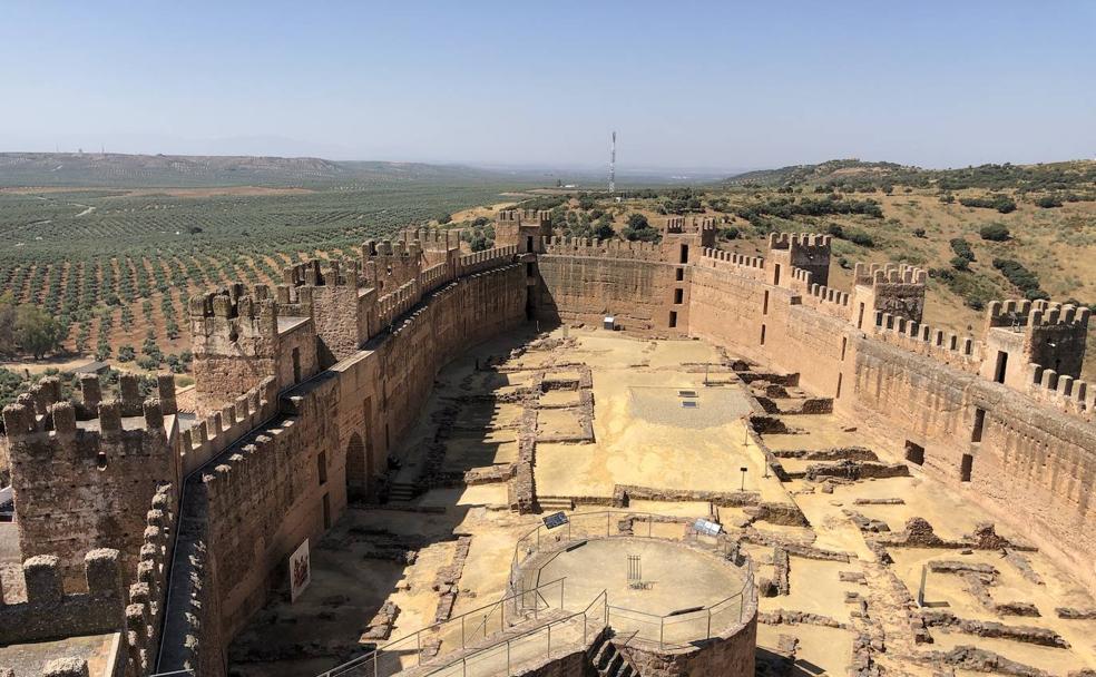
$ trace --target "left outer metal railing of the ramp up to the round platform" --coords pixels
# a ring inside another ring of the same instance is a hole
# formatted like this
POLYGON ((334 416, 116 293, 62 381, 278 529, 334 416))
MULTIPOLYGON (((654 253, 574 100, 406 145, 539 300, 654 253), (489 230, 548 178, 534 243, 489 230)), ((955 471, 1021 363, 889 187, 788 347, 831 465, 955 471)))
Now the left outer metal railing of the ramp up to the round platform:
POLYGON ((322 673, 320 677, 386 677, 418 667, 425 659, 439 654, 464 649, 476 642, 485 641, 496 634, 506 632, 511 625, 529 618, 537 620, 540 615, 552 609, 562 610, 565 581, 566 579, 560 578, 503 597, 499 601, 472 609, 449 620, 420 628, 410 635, 388 641, 364 656, 322 673), (436 648, 440 650, 436 653, 436 648))

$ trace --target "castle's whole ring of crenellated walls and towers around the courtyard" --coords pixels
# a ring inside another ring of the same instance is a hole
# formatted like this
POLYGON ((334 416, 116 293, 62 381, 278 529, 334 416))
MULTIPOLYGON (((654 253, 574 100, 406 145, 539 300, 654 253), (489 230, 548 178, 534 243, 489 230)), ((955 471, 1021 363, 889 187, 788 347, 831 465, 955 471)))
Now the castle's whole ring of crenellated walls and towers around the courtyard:
MULTIPOLYGON (((711 218, 671 217, 652 244, 554 237, 546 213, 502 212, 496 234, 467 253, 456 230, 408 230, 352 265, 192 298, 193 420, 170 377, 145 400, 124 377, 117 402, 88 377, 75 403, 47 379, 7 406, 29 558, 27 601, 0 596, 9 642, 112 629, 115 675, 225 675, 294 549, 389 489, 389 452, 446 363, 527 323, 605 316, 797 373, 1096 588, 1088 308, 995 302, 960 336, 922 324, 920 268, 858 264, 851 290, 829 286, 825 235, 773 234, 752 257, 715 248, 711 218)), ((508 488, 512 510, 536 509, 529 478, 508 488)))

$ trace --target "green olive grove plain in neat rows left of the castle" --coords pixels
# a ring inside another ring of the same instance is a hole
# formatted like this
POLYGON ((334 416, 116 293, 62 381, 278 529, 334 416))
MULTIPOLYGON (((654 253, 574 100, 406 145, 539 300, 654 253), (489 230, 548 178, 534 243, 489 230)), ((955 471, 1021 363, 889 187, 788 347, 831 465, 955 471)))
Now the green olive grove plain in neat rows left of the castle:
POLYGON ((498 202, 506 188, 0 189, 0 294, 69 326, 68 351, 137 366, 146 341, 164 356, 186 353, 190 294, 276 282, 303 257, 356 256, 366 239, 498 202))

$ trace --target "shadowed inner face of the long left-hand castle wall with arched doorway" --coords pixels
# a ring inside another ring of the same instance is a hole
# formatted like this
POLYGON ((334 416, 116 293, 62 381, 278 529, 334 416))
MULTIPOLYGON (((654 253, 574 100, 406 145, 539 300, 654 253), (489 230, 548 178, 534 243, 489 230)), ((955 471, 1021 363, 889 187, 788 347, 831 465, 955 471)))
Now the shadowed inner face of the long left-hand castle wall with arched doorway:
POLYGON ((305 538, 319 543, 348 487, 368 491, 448 361, 525 320, 525 294, 519 264, 442 286, 364 350, 284 390, 271 422, 188 482, 162 670, 224 674, 232 637, 287 587, 290 553, 305 538))

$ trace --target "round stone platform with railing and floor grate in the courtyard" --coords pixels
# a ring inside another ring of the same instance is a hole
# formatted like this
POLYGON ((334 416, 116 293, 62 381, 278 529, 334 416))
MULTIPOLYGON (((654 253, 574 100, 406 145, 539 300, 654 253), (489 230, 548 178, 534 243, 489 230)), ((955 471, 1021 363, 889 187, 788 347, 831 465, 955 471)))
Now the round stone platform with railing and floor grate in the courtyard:
POLYGON ((642 674, 750 677, 756 589, 748 561, 737 548, 725 556, 722 546, 630 533, 552 539, 511 571, 510 586, 529 590, 562 579, 550 604, 570 612, 604 591, 618 650, 642 674))

